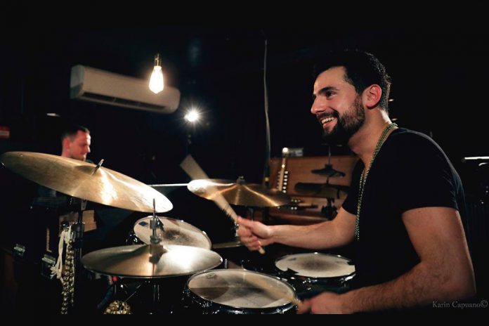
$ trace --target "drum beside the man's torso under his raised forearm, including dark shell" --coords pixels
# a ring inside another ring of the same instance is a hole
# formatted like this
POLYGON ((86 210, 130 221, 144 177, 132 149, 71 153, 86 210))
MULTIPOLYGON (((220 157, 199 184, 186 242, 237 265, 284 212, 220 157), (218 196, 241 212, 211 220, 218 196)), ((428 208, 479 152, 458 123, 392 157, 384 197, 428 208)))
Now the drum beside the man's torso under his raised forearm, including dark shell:
POLYGON ((281 278, 294 285, 299 297, 326 290, 344 292, 348 280, 355 276, 350 259, 318 252, 283 256, 275 261, 275 267, 281 278))

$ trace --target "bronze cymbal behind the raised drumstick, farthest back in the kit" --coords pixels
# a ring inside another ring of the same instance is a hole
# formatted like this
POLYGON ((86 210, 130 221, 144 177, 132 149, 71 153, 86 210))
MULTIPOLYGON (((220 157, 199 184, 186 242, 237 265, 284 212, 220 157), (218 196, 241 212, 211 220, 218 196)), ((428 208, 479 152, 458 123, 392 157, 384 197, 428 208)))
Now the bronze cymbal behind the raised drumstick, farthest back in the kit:
POLYGON ((218 194, 223 195, 229 204, 249 207, 278 207, 290 202, 290 197, 276 189, 262 185, 246 183, 238 178, 237 182, 221 179, 199 179, 190 181, 188 190, 195 195, 214 200, 218 194))

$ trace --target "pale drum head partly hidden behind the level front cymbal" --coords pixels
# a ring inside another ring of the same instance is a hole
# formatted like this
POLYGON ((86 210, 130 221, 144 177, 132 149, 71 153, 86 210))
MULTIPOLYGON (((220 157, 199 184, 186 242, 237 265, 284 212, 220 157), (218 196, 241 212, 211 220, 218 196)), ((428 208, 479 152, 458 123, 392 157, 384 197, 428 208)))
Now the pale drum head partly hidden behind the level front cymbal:
MULTIPOLYGON (((163 232, 159 230, 159 233, 162 232, 162 244, 178 244, 181 246, 211 249, 211 240, 209 240, 209 237, 207 237, 204 231, 184 221, 162 216, 158 216, 158 219, 163 225, 163 232)), ((152 235, 150 228, 151 220, 152 216, 146 216, 134 224, 136 237, 145 244, 150 244, 150 236, 152 235)))

